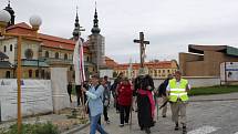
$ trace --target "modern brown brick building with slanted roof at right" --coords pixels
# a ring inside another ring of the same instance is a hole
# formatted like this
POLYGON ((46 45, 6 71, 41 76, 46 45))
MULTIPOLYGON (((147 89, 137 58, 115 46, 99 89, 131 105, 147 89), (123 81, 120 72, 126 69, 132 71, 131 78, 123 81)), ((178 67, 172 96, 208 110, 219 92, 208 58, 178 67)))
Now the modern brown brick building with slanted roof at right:
POLYGON ((184 76, 220 76, 220 63, 238 61, 238 49, 228 45, 188 45, 189 53, 179 53, 184 76))

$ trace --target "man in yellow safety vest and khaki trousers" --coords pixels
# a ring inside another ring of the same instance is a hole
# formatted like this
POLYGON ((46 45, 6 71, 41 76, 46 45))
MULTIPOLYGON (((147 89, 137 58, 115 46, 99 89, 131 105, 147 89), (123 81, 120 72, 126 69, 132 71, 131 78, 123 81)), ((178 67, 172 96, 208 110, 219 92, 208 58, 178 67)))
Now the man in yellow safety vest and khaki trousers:
POLYGON ((178 113, 180 113, 180 123, 183 132, 186 133, 186 105, 188 102, 187 92, 190 90, 188 81, 182 79, 179 71, 175 72, 175 79, 169 80, 167 85, 167 95, 170 102, 172 121, 175 122, 175 131, 178 131, 178 113))

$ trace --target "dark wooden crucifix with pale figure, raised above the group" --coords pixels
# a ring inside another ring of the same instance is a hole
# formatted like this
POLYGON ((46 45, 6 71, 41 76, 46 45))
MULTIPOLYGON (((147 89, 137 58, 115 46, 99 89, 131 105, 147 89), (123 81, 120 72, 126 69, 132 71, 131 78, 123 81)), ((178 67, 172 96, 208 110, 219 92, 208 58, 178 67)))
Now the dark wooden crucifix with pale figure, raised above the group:
POLYGON ((149 41, 144 40, 144 33, 139 32, 139 40, 134 40, 134 43, 139 43, 139 55, 141 55, 141 68, 144 68, 145 62, 145 47, 146 44, 149 44, 149 41))

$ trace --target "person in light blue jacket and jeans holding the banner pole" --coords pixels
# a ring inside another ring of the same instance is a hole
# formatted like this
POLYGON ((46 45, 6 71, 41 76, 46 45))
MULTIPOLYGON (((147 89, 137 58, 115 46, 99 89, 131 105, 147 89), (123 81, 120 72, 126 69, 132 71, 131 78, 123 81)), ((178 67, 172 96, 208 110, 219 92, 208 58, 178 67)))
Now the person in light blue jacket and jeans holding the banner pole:
POLYGON ((99 131, 101 134, 108 134, 99 123, 101 114, 103 113, 103 92, 104 87, 99 83, 100 76, 97 74, 92 75, 89 91, 82 89, 85 92, 89 101, 89 115, 90 115, 90 134, 95 134, 99 131))

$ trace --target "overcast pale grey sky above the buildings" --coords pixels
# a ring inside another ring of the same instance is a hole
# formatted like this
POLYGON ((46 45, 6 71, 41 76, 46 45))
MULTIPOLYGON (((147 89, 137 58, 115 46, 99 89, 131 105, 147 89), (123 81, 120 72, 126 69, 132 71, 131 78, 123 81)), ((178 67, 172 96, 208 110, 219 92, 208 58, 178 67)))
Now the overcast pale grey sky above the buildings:
MULTIPOLYGON (((3 9, 8 0, 0 0, 3 9)), ((40 32, 71 38, 76 6, 84 39, 91 34, 95 0, 11 0, 15 22, 39 14, 40 32)), ((188 44, 238 47, 238 0, 97 0, 99 24, 105 37, 106 55, 116 62, 139 62, 143 31, 151 41, 146 60, 172 60, 187 52, 188 44)))

